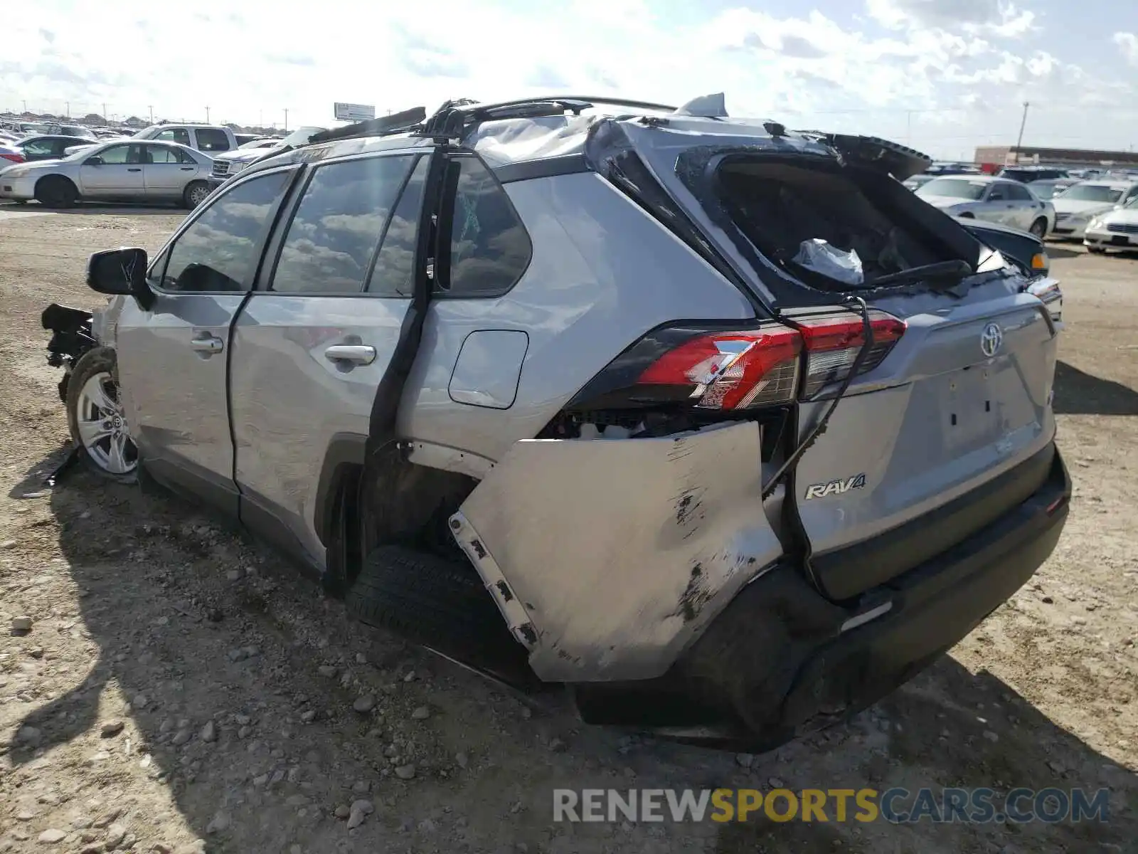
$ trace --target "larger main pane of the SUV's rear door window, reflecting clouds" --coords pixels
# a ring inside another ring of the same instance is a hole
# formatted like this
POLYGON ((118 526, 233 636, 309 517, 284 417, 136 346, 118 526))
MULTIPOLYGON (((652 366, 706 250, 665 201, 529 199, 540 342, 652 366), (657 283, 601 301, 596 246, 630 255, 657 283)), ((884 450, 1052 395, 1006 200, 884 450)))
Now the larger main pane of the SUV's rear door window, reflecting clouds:
POLYGON ((318 166, 284 235, 271 289, 360 293, 411 162, 391 156, 318 166))

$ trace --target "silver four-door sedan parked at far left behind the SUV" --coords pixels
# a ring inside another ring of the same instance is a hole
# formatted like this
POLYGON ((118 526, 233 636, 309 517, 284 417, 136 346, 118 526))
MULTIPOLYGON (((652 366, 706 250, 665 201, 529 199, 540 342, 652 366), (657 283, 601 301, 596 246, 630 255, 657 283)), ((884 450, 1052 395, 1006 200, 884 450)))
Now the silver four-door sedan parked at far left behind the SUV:
POLYGON ((112 141, 60 161, 0 171, 0 199, 35 199, 47 207, 77 202, 180 202, 197 207, 209 195, 213 161, 176 142, 112 141))

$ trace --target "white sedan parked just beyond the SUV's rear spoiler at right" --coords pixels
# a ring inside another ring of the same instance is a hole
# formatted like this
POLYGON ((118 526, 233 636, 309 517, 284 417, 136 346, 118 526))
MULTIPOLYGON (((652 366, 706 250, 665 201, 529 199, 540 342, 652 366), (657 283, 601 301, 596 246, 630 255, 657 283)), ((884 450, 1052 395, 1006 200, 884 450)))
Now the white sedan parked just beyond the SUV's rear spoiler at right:
POLYGON ((1042 239, 1055 224, 1055 210, 1025 183, 991 175, 947 175, 918 187, 916 195, 953 216, 974 217, 1030 231, 1042 239))

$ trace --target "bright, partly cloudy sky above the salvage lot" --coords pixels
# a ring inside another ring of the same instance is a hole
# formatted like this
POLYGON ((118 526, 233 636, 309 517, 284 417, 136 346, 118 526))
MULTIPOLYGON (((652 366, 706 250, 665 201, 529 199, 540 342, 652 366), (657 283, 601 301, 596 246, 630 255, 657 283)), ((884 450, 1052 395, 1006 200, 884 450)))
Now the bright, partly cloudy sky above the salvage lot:
POLYGON ((1138 148, 1138 0, 36 0, 3 22, 0 109, 328 125, 446 98, 726 93, 734 115, 938 157, 1138 148))

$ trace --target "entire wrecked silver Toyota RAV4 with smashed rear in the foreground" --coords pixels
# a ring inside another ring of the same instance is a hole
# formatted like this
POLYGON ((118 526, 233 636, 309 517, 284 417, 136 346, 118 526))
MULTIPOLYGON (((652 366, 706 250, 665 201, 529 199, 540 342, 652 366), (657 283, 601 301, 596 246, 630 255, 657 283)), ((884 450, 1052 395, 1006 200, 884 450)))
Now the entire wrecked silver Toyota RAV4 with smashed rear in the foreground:
POLYGON ((866 137, 452 101, 222 184, 51 306, 80 455, 584 721, 772 747, 1015 592, 1063 528, 1058 328, 866 137))

